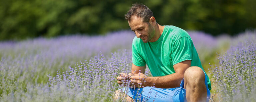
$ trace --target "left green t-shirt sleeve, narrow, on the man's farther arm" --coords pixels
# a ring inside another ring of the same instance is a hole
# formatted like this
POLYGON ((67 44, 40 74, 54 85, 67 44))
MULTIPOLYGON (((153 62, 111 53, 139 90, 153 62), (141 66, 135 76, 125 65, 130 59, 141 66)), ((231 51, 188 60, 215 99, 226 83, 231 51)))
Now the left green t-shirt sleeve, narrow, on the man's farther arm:
POLYGON ((136 66, 145 66, 146 62, 137 51, 136 47, 132 44, 132 63, 136 66))

